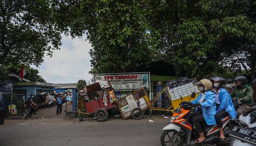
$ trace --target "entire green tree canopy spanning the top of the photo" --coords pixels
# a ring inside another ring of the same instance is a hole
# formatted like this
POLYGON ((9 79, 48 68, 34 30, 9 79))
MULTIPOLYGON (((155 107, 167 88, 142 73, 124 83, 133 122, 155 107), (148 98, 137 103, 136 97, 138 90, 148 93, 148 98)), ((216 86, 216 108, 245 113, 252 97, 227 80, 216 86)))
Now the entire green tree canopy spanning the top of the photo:
POLYGON ((247 73, 256 65, 255 0, 3 0, 0 64, 39 65, 60 34, 87 35, 90 73, 163 59, 177 76, 247 73), (23 57, 24 56, 24 57, 23 57))

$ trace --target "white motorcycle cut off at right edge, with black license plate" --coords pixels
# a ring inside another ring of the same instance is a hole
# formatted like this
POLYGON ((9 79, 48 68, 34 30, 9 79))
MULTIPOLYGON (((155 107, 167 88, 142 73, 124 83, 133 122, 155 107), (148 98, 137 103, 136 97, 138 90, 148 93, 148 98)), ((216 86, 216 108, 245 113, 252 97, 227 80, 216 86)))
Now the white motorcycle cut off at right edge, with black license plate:
MULTIPOLYGON (((242 103, 239 100, 234 100, 234 103, 241 107, 242 103)), ((240 122, 245 125, 244 127, 235 126, 230 132, 230 136, 234 137, 230 142, 230 146, 256 145, 256 103, 253 108, 239 116, 240 122)), ((244 111, 244 109, 243 109, 244 111)))

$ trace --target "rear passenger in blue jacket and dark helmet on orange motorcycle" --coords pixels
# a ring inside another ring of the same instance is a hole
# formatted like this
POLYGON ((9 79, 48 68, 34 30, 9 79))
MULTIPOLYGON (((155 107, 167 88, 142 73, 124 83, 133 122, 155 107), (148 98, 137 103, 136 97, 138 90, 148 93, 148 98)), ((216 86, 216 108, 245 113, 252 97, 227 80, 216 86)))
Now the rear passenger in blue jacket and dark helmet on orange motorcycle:
POLYGON ((223 141, 225 139, 225 135, 223 133, 223 125, 221 118, 225 116, 230 116, 232 119, 236 118, 236 110, 232 103, 232 99, 226 89, 222 88, 226 82, 222 77, 212 77, 209 78, 212 81, 212 85, 215 88, 215 104, 217 109, 217 114, 215 115, 215 120, 217 126, 219 127, 219 141, 223 141))

